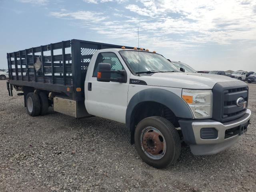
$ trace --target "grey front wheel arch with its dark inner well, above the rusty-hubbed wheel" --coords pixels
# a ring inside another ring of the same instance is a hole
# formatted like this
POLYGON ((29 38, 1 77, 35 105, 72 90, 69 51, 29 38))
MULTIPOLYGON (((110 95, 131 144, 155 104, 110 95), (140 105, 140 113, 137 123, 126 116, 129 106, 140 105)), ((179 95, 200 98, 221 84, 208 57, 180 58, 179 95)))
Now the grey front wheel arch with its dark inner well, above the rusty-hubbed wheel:
MULTIPOLYGON (((136 93, 130 100, 126 110, 126 128, 131 132, 131 143, 134 143, 134 130, 140 118, 159 116, 159 107, 168 110, 176 122, 178 118, 193 118, 193 114, 186 102, 178 95, 160 88, 150 88, 136 93), (151 113, 150 110, 154 110, 151 113), (146 114, 143 112, 146 111, 146 114), (156 112, 158 112, 156 114, 156 112)), ((172 122, 174 124, 174 122, 172 122)), ((177 121, 178 123, 178 121, 177 121)))

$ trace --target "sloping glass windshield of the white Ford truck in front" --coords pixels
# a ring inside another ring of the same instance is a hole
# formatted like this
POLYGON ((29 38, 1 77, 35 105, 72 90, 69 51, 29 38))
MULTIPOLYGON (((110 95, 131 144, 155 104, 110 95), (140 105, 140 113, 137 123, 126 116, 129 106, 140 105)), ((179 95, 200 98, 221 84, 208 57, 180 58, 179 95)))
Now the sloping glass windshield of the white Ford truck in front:
POLYGON ((170 61, 156 53, 123 50, 120 51, 120 54, 124 62, 135 73, 146 71, 180 72, 170 61))

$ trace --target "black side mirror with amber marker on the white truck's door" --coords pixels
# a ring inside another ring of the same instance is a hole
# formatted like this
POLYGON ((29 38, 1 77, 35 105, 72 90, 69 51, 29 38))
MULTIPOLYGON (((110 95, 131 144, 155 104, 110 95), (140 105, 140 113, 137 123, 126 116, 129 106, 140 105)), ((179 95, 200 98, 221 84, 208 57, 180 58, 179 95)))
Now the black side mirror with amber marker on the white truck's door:
POLYGON ((127 73, 125 70, 111 70, 111 65, 109 63, 99 63, 98 64, 99 70, 97 72, 97 81, 101 82, 120 82, 126 83, 127 82, 127 73), (120 78, 111 78, 111 73, 121 74, 122 77, 120 78))

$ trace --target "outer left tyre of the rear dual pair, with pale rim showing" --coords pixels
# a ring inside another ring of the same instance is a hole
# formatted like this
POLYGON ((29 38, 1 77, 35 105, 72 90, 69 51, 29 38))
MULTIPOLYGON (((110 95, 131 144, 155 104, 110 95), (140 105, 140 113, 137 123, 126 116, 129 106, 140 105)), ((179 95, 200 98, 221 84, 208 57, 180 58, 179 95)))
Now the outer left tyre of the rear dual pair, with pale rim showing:
POLYGON ((40 115, 41 105, 39 96, 37 94, 31 92, 27 94, 26 108, 30 116, 34 117, 40 115))

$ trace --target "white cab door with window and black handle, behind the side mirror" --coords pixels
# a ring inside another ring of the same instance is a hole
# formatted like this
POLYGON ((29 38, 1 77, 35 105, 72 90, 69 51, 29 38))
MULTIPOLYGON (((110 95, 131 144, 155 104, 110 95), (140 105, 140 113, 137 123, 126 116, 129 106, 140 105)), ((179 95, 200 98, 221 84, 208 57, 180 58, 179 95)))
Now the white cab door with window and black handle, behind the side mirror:
MULTIPOLYGON (((130 71, 124 63, 122 64, 122 58, 118 58, 117 55, 120 57, 114 52, 98 53, 95 65, 88 69, 90 72, 88 78, 86 77, 85 106, 89 114, 125 123, 129 80, 127 83, 97 81, 99 63, 110 63, 112 70, 124 69, 127 77, 130 77, 130 71)), ((120 75, 111 74, 111 78, 118 78, 120 75)))

